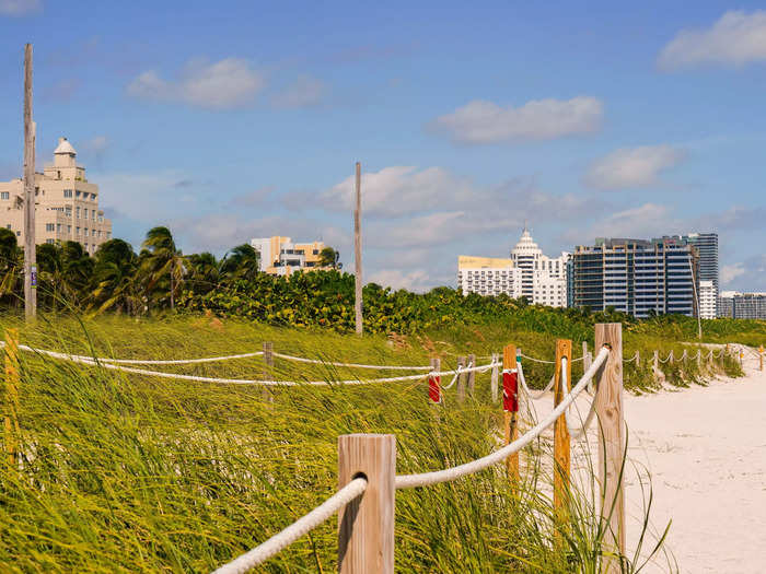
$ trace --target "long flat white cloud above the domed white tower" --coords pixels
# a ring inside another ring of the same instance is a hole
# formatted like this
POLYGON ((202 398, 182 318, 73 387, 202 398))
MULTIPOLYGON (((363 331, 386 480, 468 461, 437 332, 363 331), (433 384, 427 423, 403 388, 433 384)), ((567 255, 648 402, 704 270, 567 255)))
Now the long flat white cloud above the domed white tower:
POLYGON ((429 128, 467 144, 550 140, 597 131, 603 108, 602 102, 591 96, 534 99, 515 108, 474 99, 452 114, 438 117, 429 128))

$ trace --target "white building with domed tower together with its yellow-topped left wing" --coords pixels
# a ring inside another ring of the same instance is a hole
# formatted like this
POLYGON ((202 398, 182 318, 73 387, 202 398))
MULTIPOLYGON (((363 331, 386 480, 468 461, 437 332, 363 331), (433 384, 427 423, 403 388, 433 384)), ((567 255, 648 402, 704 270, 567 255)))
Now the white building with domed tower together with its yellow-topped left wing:
POLYGON ((567 306, 567 263, 569 254, 548 257, 524 225, 510 258, 460 256, 457 286, 463 293, 521 296, 536 305, 567 306))

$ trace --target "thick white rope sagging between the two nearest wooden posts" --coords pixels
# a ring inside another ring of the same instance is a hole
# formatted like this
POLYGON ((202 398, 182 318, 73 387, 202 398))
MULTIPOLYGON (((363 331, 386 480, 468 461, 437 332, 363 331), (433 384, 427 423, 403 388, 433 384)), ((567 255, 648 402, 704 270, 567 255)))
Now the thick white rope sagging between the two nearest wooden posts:
POLYGON ((539 436, 543 431, 550 426, 556 419, 558 419, 561 413, 572 403, 572 401, 582 393, 582 390, 588 386, 588 382, 593 377, 601 365, 606 361, 610 354, 608 348, 604 347, 596 355, 593 364, 582 376, 577 386, 568 394, 565 399, 556 407, 547 418, 538 422, 534 427, 523 434, 521 437, 513 441, 511 444, 503 446, 502 448, 471 462, 460 465, 452 468, 446 468, 444 470, 437 470, 433 472, 423 472, 421 475, 401 475, 396 477, 395 485, 397 489, 411 489, 415 487, 428 487, 430 484, 438 484, 440 482, 448 482, 451 480, 456 480, 466 475, 472 475, 484 470, 501 460, 508 458, 513 453, 518 453, 526 445, 532 443, 537 436, 539 436))

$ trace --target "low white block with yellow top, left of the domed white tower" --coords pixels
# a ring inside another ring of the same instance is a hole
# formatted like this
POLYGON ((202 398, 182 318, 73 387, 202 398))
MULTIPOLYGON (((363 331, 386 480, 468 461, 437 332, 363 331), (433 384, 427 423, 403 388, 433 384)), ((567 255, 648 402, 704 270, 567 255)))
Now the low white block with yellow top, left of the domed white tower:
POLYGON ((457 288, 463 293, 499 295, 504 293, 513 298, 521 296, 521 269, 510 259, 492 257, 457 258, 457 288))

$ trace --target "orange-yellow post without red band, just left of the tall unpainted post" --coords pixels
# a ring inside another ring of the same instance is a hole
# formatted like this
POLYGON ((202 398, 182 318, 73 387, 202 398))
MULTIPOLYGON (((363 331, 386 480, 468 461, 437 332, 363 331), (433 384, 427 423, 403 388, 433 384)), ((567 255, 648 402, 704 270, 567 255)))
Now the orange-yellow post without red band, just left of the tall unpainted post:
MULTIPOLYGON (((564 400, 565 391, 571 390, 572 379, 572 342, 568 339, 556 341, 556 371, 554 383, 554 408, 564 400), (566 359, 566 371, 562 370, 561 361, 566 359), (562 375, 566 373, 566 388, 564 387, 562 375)), ((569 473, 570 473, 571 449, 569 444, 569 429, 567 419, 561 414, 554 423, 554 515, 557 518, 558 527, 562 527, 567 515, 567 497, 569 495, 569 473)), ((560 543, 560 532, 557 535, 560 543)))

